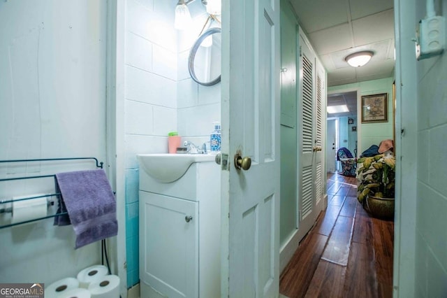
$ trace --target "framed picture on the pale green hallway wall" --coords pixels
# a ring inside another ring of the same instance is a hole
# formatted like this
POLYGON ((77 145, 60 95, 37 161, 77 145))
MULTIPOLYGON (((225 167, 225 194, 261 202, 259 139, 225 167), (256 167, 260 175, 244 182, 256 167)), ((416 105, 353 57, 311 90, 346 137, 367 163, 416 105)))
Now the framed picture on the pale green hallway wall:
POLYGON ((362 123, 388 122, 388 94, 362 96, 362 123))

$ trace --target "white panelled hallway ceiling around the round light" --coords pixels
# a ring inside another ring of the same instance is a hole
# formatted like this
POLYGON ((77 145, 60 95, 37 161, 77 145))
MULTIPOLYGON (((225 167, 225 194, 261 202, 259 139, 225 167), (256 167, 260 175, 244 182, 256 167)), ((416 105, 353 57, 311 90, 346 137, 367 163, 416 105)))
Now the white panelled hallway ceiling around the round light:
POLYGON ((393 0, 289 0, 302 29, 328 71, 328 86, 394 75, 393 0), (372 50, 365 66, 353 68, 347 55, 372 50))

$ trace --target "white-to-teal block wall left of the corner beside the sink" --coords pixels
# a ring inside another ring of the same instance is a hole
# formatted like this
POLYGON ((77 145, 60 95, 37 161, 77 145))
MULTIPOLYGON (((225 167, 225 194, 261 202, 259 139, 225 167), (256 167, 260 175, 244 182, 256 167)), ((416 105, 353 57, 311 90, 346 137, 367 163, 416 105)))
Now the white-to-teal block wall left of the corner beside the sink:
POLYGON ((126 262, 128 288, 139 281, 137 153, 167 152, 177 129, 177 52, 173 1, 126 1, 126 262), (169 37, 170 36, 170 37, 169 37))

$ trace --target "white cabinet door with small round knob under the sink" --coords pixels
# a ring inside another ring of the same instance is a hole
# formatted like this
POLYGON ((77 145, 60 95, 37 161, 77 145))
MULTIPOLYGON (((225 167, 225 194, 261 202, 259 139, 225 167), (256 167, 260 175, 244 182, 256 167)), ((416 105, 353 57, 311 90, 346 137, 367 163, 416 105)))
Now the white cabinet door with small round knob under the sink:
POLYGON ((140 278, 168 297, 198 297, 198 202, 140 191, 140 278))

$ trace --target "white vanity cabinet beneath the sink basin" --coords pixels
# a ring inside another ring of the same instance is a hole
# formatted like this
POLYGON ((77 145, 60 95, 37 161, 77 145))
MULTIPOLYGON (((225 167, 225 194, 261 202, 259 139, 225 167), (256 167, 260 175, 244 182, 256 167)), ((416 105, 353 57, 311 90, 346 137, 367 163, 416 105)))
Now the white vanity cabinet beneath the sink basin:
POLYGON ((195 162, 161 183, 140 169, 140 295, 220 296, 220 171, 195 162))

